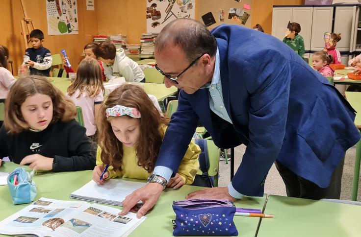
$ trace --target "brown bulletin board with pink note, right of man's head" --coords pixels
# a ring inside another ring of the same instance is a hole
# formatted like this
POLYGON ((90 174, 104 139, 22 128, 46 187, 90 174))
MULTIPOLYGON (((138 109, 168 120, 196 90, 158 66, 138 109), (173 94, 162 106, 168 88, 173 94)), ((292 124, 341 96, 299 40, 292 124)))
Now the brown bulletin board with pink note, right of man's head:
POLYGON ((207 20, 211 19, 209 12, 212 13, 215 20, 214 24, 207 25, 212 29, 220 24, 238 24, 251 28, 252 0, 198 0, 197 1, 197 20, 203 23, 202 16, 207 20), (230 8, 232 10, 230 11, 230 8), (235 8, 235 9, 234 9, 235 8), (246 9, 250 8, 250 9, 246 9), (222 17, 223 10, 223 17, 222 17), (231 15, 230 15, 231 13, 231 15), (229 16, 232 19, 229 19, 229 16), (222 21, 223 18, 223 21, 222 21))

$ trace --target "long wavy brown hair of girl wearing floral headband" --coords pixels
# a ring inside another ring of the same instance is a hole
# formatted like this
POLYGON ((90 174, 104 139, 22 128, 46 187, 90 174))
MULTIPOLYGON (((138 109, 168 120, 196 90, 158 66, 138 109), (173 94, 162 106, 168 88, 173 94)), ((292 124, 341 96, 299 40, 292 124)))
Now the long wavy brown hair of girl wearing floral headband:
POLYGON ((110 164, 114 170, 122 170, 123 144, 115 137, 109 122, 112 117, 107 119, 105 110, 115 105, 139 110, 141 115, 140 135, 135 144, 138 157, 137 165, 148 172, 152 172, 164 137, 164 125, 168 125, 169 119, 159 114, 152 100, 140 86, 124 84, 110 93, 100 110, 101 132, 98 137, 98 144, 102 148, 103 164, 110 164))

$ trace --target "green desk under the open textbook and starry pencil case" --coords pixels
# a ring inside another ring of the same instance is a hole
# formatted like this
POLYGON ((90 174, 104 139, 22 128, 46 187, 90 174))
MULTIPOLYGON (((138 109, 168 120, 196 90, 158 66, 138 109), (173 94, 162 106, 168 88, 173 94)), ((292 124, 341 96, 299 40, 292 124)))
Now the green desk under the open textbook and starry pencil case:
MULTIPOLYGON (((17 166, 18 165, 12 162, 3 162, 3 165, 0 166, 0 171, 11 172, 17 166)), ((27 166, 25 167, 26 170, 29 171, 29 168, 27 166)), ((38 172, 33 178, 38 187, 38 193, 35 200, 40 197, 59 200, 77 200, 70 199, 70 193, 88 183, 91 180, 91 176, 92 170, 56 173, 38 172)), ((154 209, 147 214, 148 218, 133 233, 131 233, 130 236, 171 237, 173 232, 172 219, 175 218, 172 202, 174 200, 183 200, 187 193, 200 189, 203 188, 185 185, 179 190, 166 189, 163 191, 154 209)), ((13 205, 7 186, 0 186, 0 197, 0 220, 5 219, 29 205, 13 205)), ((265 199, 266 195, 263 197, 245 197, 244 199, 237 201, 236 206, 262 209, 265 199)), ((259 218, 235 216, 234 222, 238 229, 239 237, 254 237, 258 227, 259 218)))

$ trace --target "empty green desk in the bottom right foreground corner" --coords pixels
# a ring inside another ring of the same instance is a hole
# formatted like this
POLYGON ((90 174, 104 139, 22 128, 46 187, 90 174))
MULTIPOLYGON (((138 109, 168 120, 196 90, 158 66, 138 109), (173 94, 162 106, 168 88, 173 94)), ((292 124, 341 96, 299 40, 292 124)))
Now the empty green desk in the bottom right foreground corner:
POLYGON ((360 237, 361 206, 269 195, 257 237, 360 237))

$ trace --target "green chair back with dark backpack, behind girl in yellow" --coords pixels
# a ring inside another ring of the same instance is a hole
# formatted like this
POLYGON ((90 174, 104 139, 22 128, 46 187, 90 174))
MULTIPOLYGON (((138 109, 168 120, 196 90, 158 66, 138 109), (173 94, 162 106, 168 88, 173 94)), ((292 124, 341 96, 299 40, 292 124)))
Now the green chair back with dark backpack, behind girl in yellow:
MULTIPOLYGON (((194 139, 192 139, 194 142, 194 139)), ((219 171, 219 155, 221 150, 214 144, 213 141, 207 140, 209 168, 208 175, 214 177, 214 186, 218 186, 218 171, 219 171)), ((198 169, 197 174, 202 175, 202 170, 198 169)))

